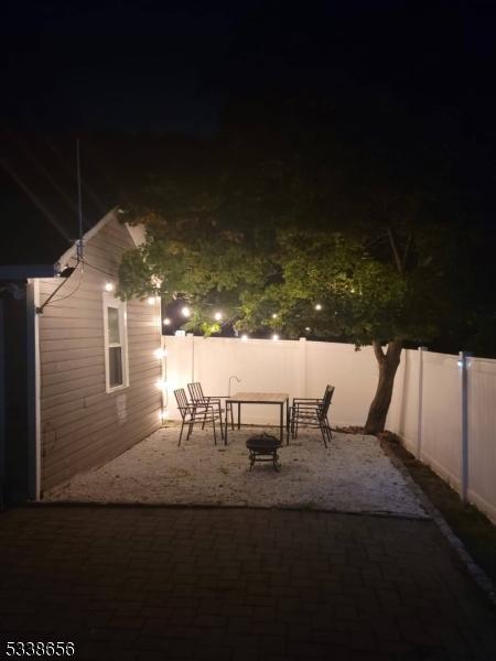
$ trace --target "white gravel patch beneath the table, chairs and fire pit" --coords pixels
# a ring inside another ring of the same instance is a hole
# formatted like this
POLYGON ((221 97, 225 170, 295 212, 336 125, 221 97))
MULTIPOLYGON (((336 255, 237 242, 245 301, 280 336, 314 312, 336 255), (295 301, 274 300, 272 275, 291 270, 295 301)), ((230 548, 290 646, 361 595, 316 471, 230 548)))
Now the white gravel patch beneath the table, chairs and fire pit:
POLYGON ((424 517, 425 510, 375 436, 300 432, 279 449, 281 469, 249 470, 246 438, 259 427, 229 432, 229 445, 195 430, 177 447, 179 427, 161 429, 104 466, 44 494, 45 501, 291 507, 424 517))

